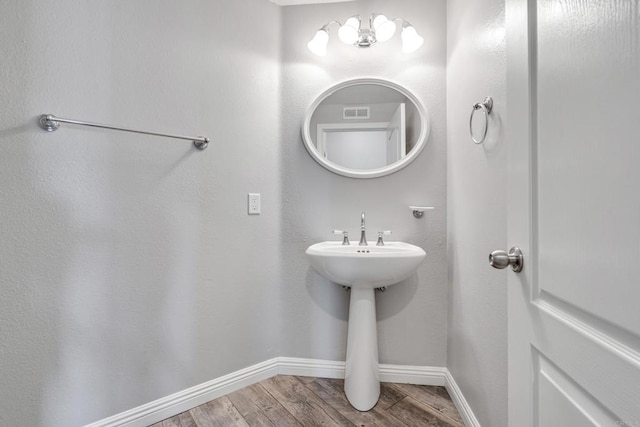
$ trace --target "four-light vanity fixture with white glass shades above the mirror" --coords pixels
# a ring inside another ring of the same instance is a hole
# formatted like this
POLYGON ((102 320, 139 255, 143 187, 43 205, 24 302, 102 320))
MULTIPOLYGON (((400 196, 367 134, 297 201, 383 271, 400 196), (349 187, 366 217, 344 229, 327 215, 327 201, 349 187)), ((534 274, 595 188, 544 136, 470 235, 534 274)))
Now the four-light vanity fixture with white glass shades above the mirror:
POLYGON ((424 39, 420 37, 416 29, 402 18, 388 19, 380 13, 372 13, 369 16, 369 28, 362 28, 360 16, 352 16, 344 24, 338 21, 330 21, 320 28, 316 35, 307 43, 307 47, 318 56, 327 54, 329 43, 329 26, 338 26, 338 38, 343 43, 356 47, 371 47, 377 42, 386 42, 396 32, 396 21, 402 23, 402 51, 404 53, 415 52, 422 46, 424 39))

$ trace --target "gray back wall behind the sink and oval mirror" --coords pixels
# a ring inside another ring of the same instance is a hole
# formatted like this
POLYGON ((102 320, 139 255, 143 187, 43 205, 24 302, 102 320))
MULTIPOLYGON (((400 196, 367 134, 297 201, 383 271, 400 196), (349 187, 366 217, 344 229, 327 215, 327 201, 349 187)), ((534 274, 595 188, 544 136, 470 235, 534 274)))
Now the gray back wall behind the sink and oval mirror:
POLYGON ((381 363, 444 366, 446 361, 446 130, 444 0, 354 1, 291 6, 282 16, 282 259, 283 310, 287 315, 283 355, 344 360, 349 295, 313 270, 304 250, 338 239, 346 229, 358 239, 360 212, 368 237, 392 230, 394 240, 417 244, 427 259, 417 276, 378 294, 381 363), (344 45, 331 27, 329 52, 317 57, 306 43, 331 20, 372 12, 411 20, 425 38, 414 54, 400 51, 400 36, 368 50, 344 45), (353 179, 318 165, 305 150, 300 125, 314 98, 335 83, 358 78, 392 80, 409 90, 431 116, 431 135, 421 155, 386 177, 353 179), (435 206, 415 219, 411 204, 435 206))

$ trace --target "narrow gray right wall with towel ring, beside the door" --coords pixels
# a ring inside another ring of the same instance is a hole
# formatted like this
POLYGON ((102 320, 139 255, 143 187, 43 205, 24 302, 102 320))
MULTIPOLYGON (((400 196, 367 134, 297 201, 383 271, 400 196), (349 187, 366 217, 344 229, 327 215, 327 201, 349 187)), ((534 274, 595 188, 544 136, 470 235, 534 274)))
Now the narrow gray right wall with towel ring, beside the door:
POLYGON ((493 427, 507 425, 507 275, 487 261, 508 249, 504 21, 504 0, 447 2, 447 366, 480 423, 493 427), (489 135, 475 145, 469 114, 486 96, 489 135))

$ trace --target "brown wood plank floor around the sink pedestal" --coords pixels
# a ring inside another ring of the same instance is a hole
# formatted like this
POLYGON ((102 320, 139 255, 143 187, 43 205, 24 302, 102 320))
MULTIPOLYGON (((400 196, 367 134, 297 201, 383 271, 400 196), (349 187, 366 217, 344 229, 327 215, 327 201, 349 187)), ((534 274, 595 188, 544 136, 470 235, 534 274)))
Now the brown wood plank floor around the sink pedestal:
POLYGON ((278 375, 152 427, 442 426, 464 427, 444 387, 381 384, 378 404, 353 409, 343 380, 278 375))

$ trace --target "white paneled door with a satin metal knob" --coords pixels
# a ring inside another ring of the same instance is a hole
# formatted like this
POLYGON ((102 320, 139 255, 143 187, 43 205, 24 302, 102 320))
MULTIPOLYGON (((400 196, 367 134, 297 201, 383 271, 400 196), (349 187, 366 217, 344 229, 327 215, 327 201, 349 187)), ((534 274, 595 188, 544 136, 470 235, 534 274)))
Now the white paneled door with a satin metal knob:
POLYGON ((507 0, 509 426, 640 426, 639 0, 507 0))

